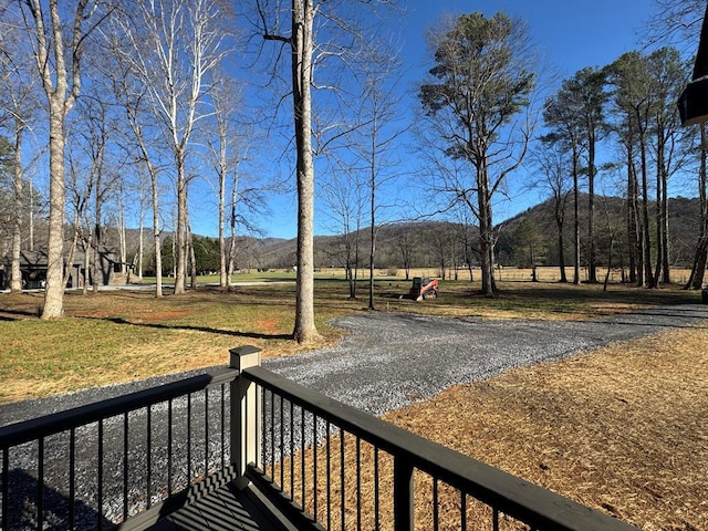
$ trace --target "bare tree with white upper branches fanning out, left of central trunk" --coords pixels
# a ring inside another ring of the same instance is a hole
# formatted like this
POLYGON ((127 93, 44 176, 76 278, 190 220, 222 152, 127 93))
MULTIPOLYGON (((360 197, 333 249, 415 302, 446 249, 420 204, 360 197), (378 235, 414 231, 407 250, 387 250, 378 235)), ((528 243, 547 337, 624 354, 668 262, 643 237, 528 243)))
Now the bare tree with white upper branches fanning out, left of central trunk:
POLYGON ((133 69, 147 87, 150 111, 171 150, 176 197, 175 293, 185 291, 187 264, 187 157, 202 108, 205 81, 223 58, 220 27, 225 19, 215 0, 140 2, 138 28, 128 28, 133 69), (139 31, 136 31, 139 30, 139 31))

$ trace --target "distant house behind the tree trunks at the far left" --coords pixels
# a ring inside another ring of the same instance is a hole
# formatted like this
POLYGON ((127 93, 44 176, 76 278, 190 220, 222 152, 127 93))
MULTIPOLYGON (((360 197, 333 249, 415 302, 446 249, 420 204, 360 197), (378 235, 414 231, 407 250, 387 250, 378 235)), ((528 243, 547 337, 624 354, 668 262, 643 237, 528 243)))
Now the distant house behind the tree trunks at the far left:
MULTIPOLYGON (((111 285, 125 283, 125 275, 121 274, 121 261, 117 253, 113 250, 104 249, 100 252, 101 263, 98 267, 98 285, 111 285)), ((67 268, 69 288, 83 288, 87 281, 88 285, 93 285, 93 263, 88 266, 88 272, 85 269, 85 257, 83 251, 76 251, 71 264, 66 263, 64 258, 64 268, 67 268)), ((93 261, 93 256, 90 254, 93 261)), ((10 287, 10 272, 12 270, 12 259, 6 256, 0 261, 0 289, 10 287)), ((22 273, 22 288, 25 290, 42 289, 46 282, 46 251, 22 251, 20 253, 20 271, 22 273)))

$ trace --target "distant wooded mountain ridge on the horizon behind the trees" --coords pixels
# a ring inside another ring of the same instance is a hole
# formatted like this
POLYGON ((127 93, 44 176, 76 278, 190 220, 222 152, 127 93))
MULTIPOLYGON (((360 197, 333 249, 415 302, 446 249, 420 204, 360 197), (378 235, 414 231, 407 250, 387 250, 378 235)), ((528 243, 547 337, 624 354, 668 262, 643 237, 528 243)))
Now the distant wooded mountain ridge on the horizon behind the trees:
MULTIPOLYGON (((587 239, 587 196, 580 197, 581 247, 587 239)), ((654 216, 650 206, 650 216, 654 216)), ((690 267, 700 227, 700 205, 697 198, 669 199, 670 258, 675 267, 690 267)), ((572 263, 573 204, 569 199, 564 222, 566 264, 572 263)), ((558 264, 558 230, 553 216, 553 201, 545 200, 497 226, 496 257, 499 263, 512 267, 529 266, 529 238, 538 238, 542 252, 537 264, 558 264), (531 229, 530 229, 531 228, 531 229), (529 230, 532 230, 529 233, 529 230), (535 236, 534 236, 535 235, 535 236)), ((597 263, 608 259, 611 236, 613 239, 613 266, 626 262, 626 205, 618 197, 595 196, 595 233, 597 263)), ((128 261, 137 249, 138 231, 128 231, 128 261), (131 250, 132 249, 132 250, 131 250)), ((169 235, 163 235, 165 241, 169 235)), ((146 253, 149 231, 144 231, 146 253)), ((358 239, 360 268, 368 267, 369 228, 348 235, 350 241, 358 239)), ((451 221, 425 220, 385 223, 378 227, 375 268, 402 269, 408 263, 414 268, 462 268, 477 263, 477 227, 465 227, 451 221)), ((652 235, 654 239, 654 235, 652 235)), ((353 243, 352 243, 353 244, 353 243)), ((345 238, 343 236, 316 236, 314 239, 315 268, 345 264, 345 238)), ((240 269, 291 269, 296 263, 296 239, 238 237, 237 267, 240 269)), ((352 260, 355 249, 352 249, 352 260)), ((583 258, 584 259, 584 258, 583 258)), ((626 263, 624 263, 626 264, 626 263)))

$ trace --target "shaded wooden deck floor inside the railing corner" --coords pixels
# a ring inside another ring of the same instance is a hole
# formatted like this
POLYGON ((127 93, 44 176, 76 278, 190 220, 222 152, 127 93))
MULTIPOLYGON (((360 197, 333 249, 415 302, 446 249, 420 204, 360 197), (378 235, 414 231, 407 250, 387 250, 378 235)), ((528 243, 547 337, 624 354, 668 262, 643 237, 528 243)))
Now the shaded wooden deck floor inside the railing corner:
POLYGON ((233 483, 163 518, 152 531, 298 531, 257 488, 238 490, 233 483))

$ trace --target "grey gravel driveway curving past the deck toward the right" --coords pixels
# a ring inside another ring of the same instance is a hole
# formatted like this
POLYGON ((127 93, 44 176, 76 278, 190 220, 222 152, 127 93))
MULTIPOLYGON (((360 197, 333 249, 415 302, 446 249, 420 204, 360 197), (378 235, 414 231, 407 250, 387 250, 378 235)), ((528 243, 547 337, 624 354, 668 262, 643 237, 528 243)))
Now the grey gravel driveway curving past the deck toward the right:
MULTIPOLYGON (((558 360, 662 330, 706 326, 708 306, 685 304, 590 321, 431 317, 372 312, 335 321, 342 343, 263 366, 374 415, 529 363, 558 360)), ((237 345, 235 345, 237 346, 237 345)), ((227 358, 227 353, 225 353, 227 358)), ((97 387, 0 407, 0 426, 159 385, 195 373, 97 387)))

